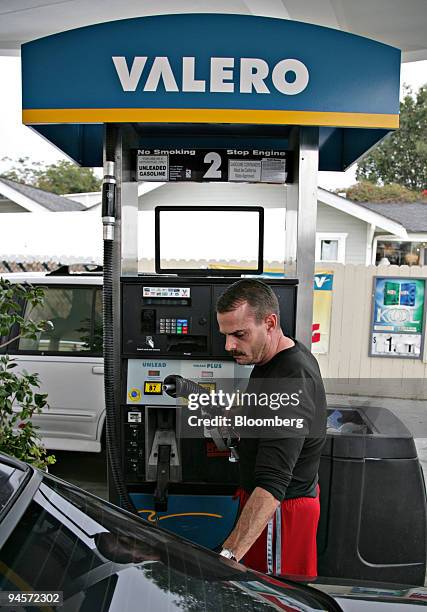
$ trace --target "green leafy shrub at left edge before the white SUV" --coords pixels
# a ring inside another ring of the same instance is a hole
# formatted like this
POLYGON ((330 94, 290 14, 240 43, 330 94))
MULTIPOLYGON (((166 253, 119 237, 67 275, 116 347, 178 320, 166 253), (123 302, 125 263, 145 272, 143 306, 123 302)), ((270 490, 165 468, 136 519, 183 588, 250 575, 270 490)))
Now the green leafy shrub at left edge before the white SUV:
POLYGON ((31 419, 47 406, 47 394, 37 392, 40 387, 37 374, 13 371, 18 364, 7 354, 7 349, 17 338, 35 339, 46 329, 48 322, 30 318, 43 297, 41 287, 15 285, 0 278, 0 351, 3 353, 0 356, 0 451, 42 469, 55 463, 55 457, 41 446, 38 428, 31 419), (30 304, 25 319, 20 315, 23 301, 30 304), (17 326, 19 334, 14 334, 17 326), (11 330, 12 338, 6 340, 11 330))

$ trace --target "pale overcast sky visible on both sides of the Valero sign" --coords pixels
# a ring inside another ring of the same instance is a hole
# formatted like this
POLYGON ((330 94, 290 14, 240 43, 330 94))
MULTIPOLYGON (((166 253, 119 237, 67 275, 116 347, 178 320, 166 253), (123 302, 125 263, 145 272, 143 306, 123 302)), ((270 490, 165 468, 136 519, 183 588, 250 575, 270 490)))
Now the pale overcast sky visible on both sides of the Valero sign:
MULTIPOLYGON (((58 149, 21 122, 21 72, 19 57, 0 57, 0 172, 11 166, 4 157, 29 157, 51 164, 67 159, 58 149)), ((402 64, 401 84, 414 91, 427 83, 427 61, 402 64)), ((101 172, 101 171, 100 171, 101 172)), ((356 167, 346 172, 320 172, 319 185, 326 189, 348 187, 356 182, 356 167)))

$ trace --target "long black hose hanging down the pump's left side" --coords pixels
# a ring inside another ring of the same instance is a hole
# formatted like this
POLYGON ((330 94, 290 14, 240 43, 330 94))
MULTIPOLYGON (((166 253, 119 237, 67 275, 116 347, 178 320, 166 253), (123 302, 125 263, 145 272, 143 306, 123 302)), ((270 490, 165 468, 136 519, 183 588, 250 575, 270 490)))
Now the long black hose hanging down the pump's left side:
POLYGON ((111 475, 121 506, 138 514, 124 482, 121 468, 119 436, 116 426, 116 372, 114 367, 114 306, 113 306, 113 247, 115 224, 116 182, 114 178, 114 149, 116 129, 106 126, 106 170, 102 185, 102 220, 104 225, 104 281, 103 281, 103 329, 104 329, 104 396, 107 452, 111 475), (110 167, 111 169, 108 169, 110 167))

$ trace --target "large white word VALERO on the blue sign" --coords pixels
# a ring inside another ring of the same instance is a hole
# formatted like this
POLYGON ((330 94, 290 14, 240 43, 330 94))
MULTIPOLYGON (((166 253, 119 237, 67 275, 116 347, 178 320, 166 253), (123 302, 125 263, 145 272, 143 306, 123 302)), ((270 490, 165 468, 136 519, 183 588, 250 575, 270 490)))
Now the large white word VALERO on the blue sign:
MULTIPOLYGON (((147 62, 146 56, 136 56, 129 70, 126 58, 113 56, 112 60, 120 80, 123 91, 135 91, 139 86, 147 62)), ((210 58, 211 93, 233 93, 235 59, 233 57, 210 58)), ((270 74, 268 63, 257 57, 240 58, 240 93, 270 94, 265 80, 270 74)), ((182 58, 182 87, 179 89, 169 59, 155 57, 146 77, 145 84, 141 84, 143 91, 157 91, 160 80, 166 92, 206 92, 207 83, 204 79, 196 79, 196 58, 182 58)), ((280 60, 271 71, 271 80, 274 88, 287 96, 301 93, 308 85, 309 72, 307 66, 297 59, 280 60), (294 79, 288 81, 287 74, 292 73, 294 79)))

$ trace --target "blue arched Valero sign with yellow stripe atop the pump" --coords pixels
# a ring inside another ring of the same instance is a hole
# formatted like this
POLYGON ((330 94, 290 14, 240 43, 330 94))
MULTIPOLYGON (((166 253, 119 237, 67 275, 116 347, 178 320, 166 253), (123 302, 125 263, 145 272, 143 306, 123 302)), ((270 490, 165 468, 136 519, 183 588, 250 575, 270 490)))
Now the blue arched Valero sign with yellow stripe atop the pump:
POLYGON ((151 129, 169 147, 174 132, 196 146, 200 124, 236 146, 247 134, 281 148, 291 126, 319 126, 319 169, 345 170, 398 127, 399 74, 398 49, 307 23, 123 19, 23 45, 23 122, 85 166, 102 165, 104 123, 139 124, 144 142, 151 129))

